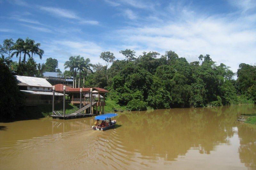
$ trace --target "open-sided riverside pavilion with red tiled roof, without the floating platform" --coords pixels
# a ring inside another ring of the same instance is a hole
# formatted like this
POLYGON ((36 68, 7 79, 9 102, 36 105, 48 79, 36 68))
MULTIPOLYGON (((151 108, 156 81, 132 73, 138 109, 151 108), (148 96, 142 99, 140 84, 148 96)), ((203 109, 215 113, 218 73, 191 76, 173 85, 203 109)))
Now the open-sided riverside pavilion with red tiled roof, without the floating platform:
MULTIPOLYGON (((63 84, 56 84, 55 91, 59 93, 63 93, 63 84)), ((65 93, 68 95, 68 100, 73 105, 79 105, 80 104, 80 89, 82 89, 82 104, 87 105, 90 104, 90 90, 91 88, 72 88, 69 86, 66 86, 65 93)), ((108 90, 93 87, 92 88, 92 102, 94 103, 92 107, 95 107, 96 114, 98 114, 98 107, 100 114, 104 114, 104 106, 105 103, 105 93, 108 92, 108 90), (102 110, 101 110, 102 109, 102 110)), ((87 113, 90 109, 87 110, 87 113)), ((85 111, 86 112, 86 111, 85 111)))

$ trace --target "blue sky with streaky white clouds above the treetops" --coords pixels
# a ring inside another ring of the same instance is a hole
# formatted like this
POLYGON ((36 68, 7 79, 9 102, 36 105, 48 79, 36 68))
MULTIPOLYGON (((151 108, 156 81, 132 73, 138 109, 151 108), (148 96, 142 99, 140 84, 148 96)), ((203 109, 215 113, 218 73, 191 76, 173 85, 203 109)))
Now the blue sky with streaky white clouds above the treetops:
MULTIPOLYGON (((120 50, 175 51, 188 62, 210 54, 236 72, 255 64, 256 0, 0 0, 0 43, 29 37, 41 43, 43 59, 70 56, 105 62, 100 53, 120 50)), ((13 60, 18 60, 13 58, 13 60)))

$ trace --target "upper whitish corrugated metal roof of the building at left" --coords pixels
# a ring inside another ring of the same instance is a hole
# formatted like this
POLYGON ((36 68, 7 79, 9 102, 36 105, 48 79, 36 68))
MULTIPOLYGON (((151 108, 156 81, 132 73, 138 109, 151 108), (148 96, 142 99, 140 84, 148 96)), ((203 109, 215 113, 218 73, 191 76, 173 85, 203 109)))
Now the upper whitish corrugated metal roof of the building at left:
POLYGON ((18 80, 19 86, 34 86, 34 87, 50 87, 50 88, 52 88, 52 85, 44 78, 28 77, 28 76, 20 76, 20 75, 14 75, 14 76, 18 80))

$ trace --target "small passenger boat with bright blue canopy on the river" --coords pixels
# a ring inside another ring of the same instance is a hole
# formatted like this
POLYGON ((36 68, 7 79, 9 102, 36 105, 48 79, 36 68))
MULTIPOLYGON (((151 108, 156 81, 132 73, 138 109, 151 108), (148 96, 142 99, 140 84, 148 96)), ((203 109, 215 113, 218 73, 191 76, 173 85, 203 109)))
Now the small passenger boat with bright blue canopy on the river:
POLYGON ((95 122, 94 125, 92 126, 93 130, 96 131, 105 131, 109 128, 112 128, 116 124, 116 119, 111 120, 112 117, 116 117, 118 114, 116 113, 107 113, 103 115, 96 116, 94 118, 95 122), (99 124, 101 121, 101 124, 99 124))

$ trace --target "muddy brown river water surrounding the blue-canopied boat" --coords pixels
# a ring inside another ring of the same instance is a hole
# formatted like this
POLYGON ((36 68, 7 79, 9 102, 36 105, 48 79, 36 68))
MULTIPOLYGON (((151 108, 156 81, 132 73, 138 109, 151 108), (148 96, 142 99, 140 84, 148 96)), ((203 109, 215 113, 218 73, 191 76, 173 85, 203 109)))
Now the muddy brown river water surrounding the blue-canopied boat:
POLYGON ((92 117, 0 123, 0 169, 256 169, 256 105, 123 112, 93 131, 92 117))

